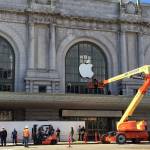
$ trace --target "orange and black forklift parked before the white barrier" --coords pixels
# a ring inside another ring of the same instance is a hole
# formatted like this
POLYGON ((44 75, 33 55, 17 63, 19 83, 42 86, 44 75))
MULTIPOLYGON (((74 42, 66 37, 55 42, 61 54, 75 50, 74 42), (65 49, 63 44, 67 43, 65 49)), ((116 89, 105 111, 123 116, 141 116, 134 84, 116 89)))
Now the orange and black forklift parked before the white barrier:
POLYGON ((57 144, 57 137, 52 125, 33 125, 32 128, 33 143, 38 145, 57 144))

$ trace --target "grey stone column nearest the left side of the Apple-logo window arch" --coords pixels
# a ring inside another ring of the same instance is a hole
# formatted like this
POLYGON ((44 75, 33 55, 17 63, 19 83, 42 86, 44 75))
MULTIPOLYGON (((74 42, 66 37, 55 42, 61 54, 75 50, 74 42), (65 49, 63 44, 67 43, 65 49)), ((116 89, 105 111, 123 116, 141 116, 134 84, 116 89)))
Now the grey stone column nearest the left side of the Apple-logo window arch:
POLYGON ((50 24, 49 65, 50 70, 56 70, 55 25, 50 24))

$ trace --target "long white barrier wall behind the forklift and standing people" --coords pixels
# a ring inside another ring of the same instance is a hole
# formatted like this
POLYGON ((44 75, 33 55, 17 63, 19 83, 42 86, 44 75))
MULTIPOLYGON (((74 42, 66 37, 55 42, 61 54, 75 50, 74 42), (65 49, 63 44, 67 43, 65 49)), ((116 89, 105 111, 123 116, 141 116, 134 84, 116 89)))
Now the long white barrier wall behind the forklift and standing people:
MULTIPOLYGON (((77 130, 79 125, 85 127, 84 121, 4 121, 0 122, 0 130, 5 128, 7 130, 7 142, 12 142, 11 133, 14 128, 18 132, 18 141, 22 142, 22 131, 25 126, 29 127, 30 132, 32 133, 33 125, 37 124, 38 127, 41 125, 52 125, 53 128, 56 130, 57 128, 60 129, 60 140, 61 141, 68 141, 68 136, 71 130, 71 127, 74 128, 74 139, 78 139, 77 130)), ((32 137, 30 137, 30 142, 32 142, 32 137)))

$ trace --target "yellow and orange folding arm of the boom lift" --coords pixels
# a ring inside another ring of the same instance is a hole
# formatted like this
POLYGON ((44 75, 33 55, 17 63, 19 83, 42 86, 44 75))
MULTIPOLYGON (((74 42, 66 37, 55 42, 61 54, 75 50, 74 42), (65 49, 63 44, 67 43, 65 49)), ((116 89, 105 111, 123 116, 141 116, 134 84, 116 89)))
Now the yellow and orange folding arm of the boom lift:
MULTIPOLYGON (((124 128, 128 128, 127 126, 129 126, 129 125, 124 124, 125 121, 128 120, 128 116, 131 116, 133 114, 134 110, 136 109, 138 104, 141 102, 144 94, 146 93, 148 87, 150 86, 150 65, 145 65, 145 66, 142 66, 140 68, 134 69, 132 71, 129 71, 129 72, 123 73, 121 75, 112 77, 112 78, 110 78, 108 80, 104 80, 101 83, 104 86, 104 85, 107 85, 107 84, 109 84, 111 82, 118 81, 118 80, 121 80, 121 79, 124 79, 124 78, 130 78, 130 77, 132 77, 134 75, 141 74, 141 73, 144 74, 145 82, 138 89, 137 94, 135 95, 135 97, 133 98, 133 100, 131 101, 129 106, 127 107, 127 109, 126 109, 125 113, 123 114, 123 116, 121 117, 120 121, 117 123, 117 130, 118 131, 124 130, 124 128)), ((144 129, 141 129, 136 124, 135 131, 138 131, 138 130, 144 130, 144 129)))

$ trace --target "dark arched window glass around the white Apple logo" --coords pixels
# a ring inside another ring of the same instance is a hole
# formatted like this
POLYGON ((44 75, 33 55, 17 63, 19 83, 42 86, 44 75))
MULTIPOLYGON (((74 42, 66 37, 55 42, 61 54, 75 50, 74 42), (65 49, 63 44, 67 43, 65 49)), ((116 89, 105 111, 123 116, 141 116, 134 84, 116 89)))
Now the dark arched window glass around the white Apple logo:
POLYGON ((93 64, 93 79, 101 81, 107 78, 107 62, 103 51, 91 42, 79 42, 73 45, 65 58, 66 92, 71 93, 101 93, 97 89, 89 89, 89 79, 81 77, 79 65, 87 60, 93 64), (95 91, 96 90, 96 91, 95 91))

